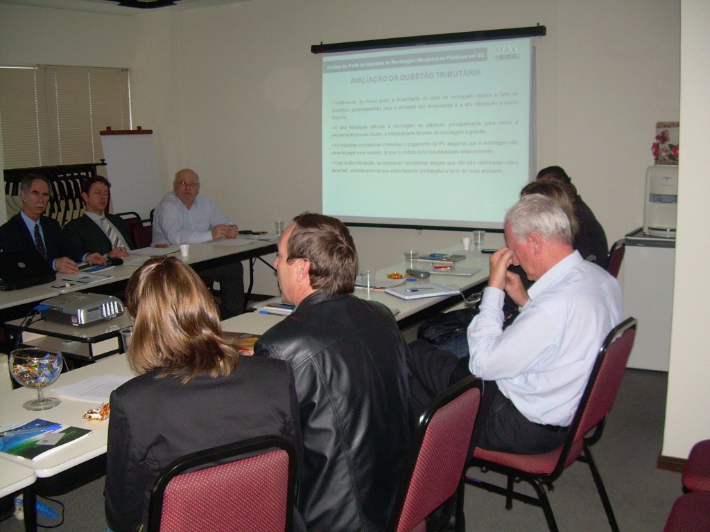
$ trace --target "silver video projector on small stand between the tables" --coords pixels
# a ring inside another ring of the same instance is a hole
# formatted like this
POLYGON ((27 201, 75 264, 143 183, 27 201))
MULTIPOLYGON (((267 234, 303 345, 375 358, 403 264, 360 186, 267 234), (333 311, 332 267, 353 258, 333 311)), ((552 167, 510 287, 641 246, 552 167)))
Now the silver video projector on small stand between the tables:
POLYGON ((42 301, 50 308, 41 311, 47 321, 86 326, 124 314, 124 304, 114 296, 72 292, 42 301))

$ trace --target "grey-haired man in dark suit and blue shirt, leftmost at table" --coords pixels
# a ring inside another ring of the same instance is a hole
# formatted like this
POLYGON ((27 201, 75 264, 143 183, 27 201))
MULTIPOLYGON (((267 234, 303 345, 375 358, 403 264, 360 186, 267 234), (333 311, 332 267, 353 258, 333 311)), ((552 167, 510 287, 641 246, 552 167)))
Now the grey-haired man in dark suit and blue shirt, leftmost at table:
POLYGON ((20 183, 22 210, 0 227, 0 248, 16 251, 36 248, 57 272, 77 273, 76 262, 62 257, 62 228, 59 222, 42 216, 51 186, 49 179, 39 174, 28 174, 20 183))

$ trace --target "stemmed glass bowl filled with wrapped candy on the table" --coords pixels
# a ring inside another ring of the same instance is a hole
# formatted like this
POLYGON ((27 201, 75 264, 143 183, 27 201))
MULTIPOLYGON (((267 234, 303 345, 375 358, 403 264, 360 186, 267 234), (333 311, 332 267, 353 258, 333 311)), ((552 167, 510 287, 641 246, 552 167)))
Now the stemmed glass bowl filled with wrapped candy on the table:
POLYGON ((22 406, 27 410, 47 410, 62 401, 45 397, 44 389, 53 384, 62 372, 62 354, 51 349, 21 348, 10 353, 10 372, 18 384, 37 390, 37 399, 22 406))

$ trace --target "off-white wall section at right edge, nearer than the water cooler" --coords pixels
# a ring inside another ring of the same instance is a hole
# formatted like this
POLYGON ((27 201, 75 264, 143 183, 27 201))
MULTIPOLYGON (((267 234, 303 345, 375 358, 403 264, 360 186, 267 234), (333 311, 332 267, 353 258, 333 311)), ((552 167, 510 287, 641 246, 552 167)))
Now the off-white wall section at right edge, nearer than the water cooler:
POLYGON ((686 458, 693 443, 710 438, 710 279, 707 211, 710 170, 710 4, 682 0, 678 238, 663 455, 686 458))

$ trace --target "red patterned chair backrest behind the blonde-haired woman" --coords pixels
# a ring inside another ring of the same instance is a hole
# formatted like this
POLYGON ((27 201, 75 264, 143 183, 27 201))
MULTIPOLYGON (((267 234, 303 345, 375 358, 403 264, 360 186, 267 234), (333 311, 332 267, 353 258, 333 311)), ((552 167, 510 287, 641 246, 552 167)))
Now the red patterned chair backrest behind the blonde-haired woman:
POLYGON ((293 445, 278 436, 178 458, 155 481, 148 530, 290 531, 295 477, 293 445))

